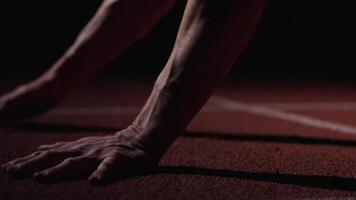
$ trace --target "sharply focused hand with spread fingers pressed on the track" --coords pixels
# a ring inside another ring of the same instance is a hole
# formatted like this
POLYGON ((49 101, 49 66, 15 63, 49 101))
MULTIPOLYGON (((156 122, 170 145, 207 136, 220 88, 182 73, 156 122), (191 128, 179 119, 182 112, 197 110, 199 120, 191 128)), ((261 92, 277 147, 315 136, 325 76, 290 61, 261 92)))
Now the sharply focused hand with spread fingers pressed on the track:
POLYGON ((89 176, 92 184, 103 184, 115 176, 153 167, 159 159, 136 143, 133 129, 116 135, 86 137, 73 142, 43 145, 39 151, 8 162, 2 170, 13 176, 33 176, 54 182, 89 176))

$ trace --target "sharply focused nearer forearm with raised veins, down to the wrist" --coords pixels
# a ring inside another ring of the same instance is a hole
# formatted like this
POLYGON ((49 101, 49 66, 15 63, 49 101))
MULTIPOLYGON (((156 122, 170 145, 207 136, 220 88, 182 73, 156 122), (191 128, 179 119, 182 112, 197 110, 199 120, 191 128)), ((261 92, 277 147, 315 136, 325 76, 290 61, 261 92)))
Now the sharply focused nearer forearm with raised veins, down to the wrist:
POLYGON ((147 132, 142 141, 164 151, 185 130, 248 44, 265 3, 188 3, 172 56, 133 123, 147 132))

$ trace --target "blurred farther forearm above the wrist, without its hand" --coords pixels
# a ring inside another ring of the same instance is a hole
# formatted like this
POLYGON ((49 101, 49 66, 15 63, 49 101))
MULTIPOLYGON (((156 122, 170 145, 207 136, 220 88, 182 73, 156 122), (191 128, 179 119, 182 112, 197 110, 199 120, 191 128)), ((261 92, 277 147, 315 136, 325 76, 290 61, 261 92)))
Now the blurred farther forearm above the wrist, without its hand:
POLYGON ((104 0, 74 44, 41 78, 55 77, 57 82, 71 83, 68 87, 90 78, 97 70, 149 32, 174 2, 174 0, 104 0))

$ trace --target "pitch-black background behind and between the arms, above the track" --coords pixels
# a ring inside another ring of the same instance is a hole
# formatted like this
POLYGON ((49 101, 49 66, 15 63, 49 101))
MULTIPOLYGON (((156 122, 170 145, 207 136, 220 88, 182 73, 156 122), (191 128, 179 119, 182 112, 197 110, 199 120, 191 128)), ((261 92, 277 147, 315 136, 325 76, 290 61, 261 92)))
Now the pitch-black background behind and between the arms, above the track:
MULTIPOLYGON (((38 75, 73 42, 99 0, 1 3, 0 78, 38 75)), ((143 41, 102 73, 157 73, 173 45, 186 1, 143 41)), ((356 75, 351 1, 271 0, 248 49, 232 75, 248 77, 337 77, 356 75)))

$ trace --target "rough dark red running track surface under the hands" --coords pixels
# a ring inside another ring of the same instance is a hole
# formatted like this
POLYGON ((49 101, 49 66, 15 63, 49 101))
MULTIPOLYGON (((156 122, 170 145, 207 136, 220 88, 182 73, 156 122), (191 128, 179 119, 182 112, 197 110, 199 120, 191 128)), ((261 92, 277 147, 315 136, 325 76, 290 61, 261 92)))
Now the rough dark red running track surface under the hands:
MULTIPOLYGON (((151 83, 151 82, 149 82, 151 83)), ((37 119, 0 128, 0 163, 41 144, 113 133, 135 112, 79 115, 75 109, 141 106, 147 82, 104 81, 37 119), (57 114, 56 114, 57 113, 57 114)), ((356 102, 348 84, 225 83, 215 93, 249 104, 356 102)), ((209 106, 222 106, 212 101, 209 106)), ((356 110, 286 111, 356 126, 356 110)), ((356 135, 247 112, 201 112, 157 173, 104 187, 86 181, 43 185, 0 174, 0 199, 356 199, 356 135)))

